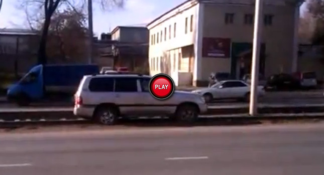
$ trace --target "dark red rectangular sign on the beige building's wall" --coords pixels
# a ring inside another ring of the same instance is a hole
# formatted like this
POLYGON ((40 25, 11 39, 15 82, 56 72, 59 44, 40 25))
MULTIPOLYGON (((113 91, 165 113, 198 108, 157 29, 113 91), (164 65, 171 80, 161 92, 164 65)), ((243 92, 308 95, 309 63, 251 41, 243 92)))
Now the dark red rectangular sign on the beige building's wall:
POLYGON ((203 38, 202 57, 230 58, 231 39, 203 38))

